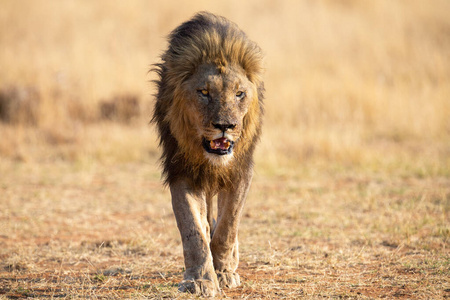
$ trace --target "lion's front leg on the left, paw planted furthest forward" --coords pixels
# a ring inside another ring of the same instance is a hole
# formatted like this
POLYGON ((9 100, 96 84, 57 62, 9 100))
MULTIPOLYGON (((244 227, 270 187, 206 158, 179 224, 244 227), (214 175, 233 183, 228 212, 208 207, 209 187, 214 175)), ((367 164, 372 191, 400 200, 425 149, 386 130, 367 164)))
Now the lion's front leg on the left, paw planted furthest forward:
POLYGON ((192 193, 185 182, 170 185, 172 206, 183 242, 186 272, 179 285, 182 292, 214 296, 220 293, 214 272, 204 196, 192 193))

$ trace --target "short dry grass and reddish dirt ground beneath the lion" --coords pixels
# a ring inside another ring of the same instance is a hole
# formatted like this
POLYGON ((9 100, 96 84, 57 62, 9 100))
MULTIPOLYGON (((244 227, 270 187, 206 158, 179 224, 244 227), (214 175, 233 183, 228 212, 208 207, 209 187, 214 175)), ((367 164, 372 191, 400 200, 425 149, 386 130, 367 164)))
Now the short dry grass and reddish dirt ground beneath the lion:
MULTIPOLYGON (((0 297, 195 298, 154 164, 0 164, 0 297)), ((255 176, 235 299, 450 297, 448 178, 255 176)))

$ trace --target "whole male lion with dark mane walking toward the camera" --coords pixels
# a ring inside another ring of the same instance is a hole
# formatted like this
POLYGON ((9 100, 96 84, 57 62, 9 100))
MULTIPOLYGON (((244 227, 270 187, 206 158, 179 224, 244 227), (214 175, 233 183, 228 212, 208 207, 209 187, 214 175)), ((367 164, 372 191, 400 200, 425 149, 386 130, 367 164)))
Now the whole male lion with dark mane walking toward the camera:
POLYGON ((261 133, 262 69, 260 48, 207 12, 172 31, 156 65, 152 122, 183 243, 180 291, 214 296, 240 284, 238 225, 261 133))

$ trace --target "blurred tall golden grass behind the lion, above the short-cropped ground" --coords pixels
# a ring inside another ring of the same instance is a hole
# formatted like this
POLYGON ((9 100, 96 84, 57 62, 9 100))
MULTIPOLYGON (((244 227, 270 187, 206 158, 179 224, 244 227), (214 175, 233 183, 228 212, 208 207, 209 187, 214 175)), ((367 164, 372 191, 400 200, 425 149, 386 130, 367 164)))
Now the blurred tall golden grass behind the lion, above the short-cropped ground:
POLYGON ((447 0, 0 4, 0 157, 157 168, 149 73, 197 11, 266 54, 263 175, 450 176, 447 0))

